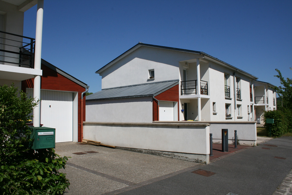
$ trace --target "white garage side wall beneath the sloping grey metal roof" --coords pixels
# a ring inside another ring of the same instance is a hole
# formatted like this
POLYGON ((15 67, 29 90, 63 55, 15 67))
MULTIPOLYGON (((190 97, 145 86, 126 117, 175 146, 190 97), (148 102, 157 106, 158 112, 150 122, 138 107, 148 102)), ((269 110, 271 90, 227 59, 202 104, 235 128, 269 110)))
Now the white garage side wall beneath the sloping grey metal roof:
POLYGON ((152 122, 152 98, 86 101, 86 121, 152 122))

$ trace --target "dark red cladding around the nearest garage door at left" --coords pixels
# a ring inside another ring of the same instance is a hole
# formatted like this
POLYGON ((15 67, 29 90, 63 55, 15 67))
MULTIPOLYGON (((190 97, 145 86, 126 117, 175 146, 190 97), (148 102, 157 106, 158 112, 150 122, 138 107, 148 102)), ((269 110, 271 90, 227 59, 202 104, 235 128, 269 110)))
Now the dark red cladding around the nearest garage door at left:
MULTIPOLYGON (((41 64, 43 76, 41 76, 41 89, 50 89, 58 91, 78 92, 78 141, 81 141, 81 93, 85 91, 84 87, 73 82, 72 80, 60 75, 55 70, 41 64)), ((34 88, 34 79, 28 79, 21 82, 22 91, 26 88, 34 88)), ((85 96, 83 99, 83 121, 85 121, 85 96)))

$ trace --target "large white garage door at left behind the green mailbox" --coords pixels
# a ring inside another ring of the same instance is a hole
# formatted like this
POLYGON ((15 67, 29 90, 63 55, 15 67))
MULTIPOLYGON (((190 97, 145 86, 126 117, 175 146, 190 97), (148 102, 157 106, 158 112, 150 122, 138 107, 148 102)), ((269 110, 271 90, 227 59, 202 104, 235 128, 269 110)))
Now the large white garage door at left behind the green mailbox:
POLYGON ((73 93, 41 90, 41 124, 56 129, 56 143, 73 141, 73 93))

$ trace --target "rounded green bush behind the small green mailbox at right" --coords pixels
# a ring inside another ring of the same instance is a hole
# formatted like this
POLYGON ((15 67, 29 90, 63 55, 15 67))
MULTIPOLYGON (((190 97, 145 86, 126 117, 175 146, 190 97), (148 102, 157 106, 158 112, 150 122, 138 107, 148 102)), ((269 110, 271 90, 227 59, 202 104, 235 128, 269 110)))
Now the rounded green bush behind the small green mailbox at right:
POLYGON ((280 137, 287 132, 287 118, 280 110, 264 111, 264 127, 267 134, 271 137, 280 137), (266 123, 267 118, 273 118, 274 123, 266 123), (270 134, 271 128, 271 134, 270 134))

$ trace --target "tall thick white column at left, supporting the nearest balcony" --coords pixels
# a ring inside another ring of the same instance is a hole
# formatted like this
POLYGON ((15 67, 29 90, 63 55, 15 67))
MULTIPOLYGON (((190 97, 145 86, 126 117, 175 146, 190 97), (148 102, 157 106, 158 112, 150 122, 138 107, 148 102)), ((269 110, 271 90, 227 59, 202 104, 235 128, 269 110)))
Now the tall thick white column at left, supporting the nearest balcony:
MULTIPOLYGON (((44 0, 38 0, 37 13, 36 13, 36 40, 35 40, 35 53, 34 53, 34 68, 41 69, 41 41, 43 33, 43 15, 44 15, 44 0)), ((41 99, 41 77, 34 77, 34 98, 41 99)), ((33 110, 34 127, 39 127, 41 115, 40 103, 33 110)))

